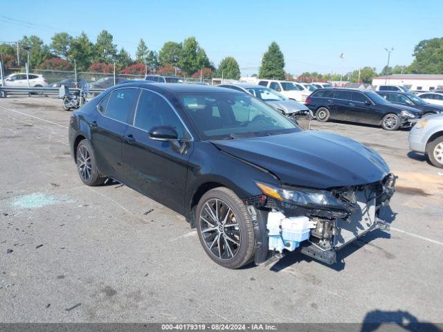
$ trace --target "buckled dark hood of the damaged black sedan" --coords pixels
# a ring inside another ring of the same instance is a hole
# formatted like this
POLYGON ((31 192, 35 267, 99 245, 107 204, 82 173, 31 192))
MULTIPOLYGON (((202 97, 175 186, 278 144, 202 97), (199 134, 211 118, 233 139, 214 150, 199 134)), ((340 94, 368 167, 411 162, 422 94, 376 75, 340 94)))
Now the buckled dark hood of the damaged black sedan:
POLYGON ((287 185, 318 189, 363 185, 380 181, 389 173, 388 165, 373 149, 325 131, 212 143, 221 151, 269 170, 287 185))

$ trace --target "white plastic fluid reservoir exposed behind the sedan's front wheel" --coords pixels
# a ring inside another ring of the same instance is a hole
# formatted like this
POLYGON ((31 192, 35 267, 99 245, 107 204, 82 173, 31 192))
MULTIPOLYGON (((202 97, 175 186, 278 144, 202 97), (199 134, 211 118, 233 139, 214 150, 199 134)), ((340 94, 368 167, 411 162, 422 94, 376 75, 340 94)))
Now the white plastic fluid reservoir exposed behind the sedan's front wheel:
POLYGON ((307 216, 287 218, 282 212, 269 212, 266 225, 269 237, 269 250, 282 252, 283 249, 295 250, 301 241, 309 238, 314 222, 307 216))

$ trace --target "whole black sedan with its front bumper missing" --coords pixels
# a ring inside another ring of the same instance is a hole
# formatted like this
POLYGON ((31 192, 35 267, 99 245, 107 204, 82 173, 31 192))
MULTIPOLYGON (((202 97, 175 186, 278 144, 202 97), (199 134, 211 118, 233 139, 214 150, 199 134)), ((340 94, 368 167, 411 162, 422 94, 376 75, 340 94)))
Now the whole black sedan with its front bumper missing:
POLYGON ((373 149, 214 86, 114 86, 73 112, 69 143, 83 183, 114 178, 183 214, 226 268, 298 247, 332 264, 384 227, 395 185, 373 149))

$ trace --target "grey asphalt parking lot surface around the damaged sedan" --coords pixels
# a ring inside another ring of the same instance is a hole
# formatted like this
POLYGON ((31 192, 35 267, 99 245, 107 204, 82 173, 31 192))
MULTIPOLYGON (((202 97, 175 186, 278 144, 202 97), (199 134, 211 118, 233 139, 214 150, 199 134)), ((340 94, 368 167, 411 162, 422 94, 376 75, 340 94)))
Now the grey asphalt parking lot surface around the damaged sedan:
POLYGON ((118 183, 83 185, 69 115, 52 98, 0 99, 1 322, 442 322, 443 169, 410 153, 408 131, 313 122, 399 176, 390 233, 334 266, 293 253, 227 270, 182 216, 118 183))

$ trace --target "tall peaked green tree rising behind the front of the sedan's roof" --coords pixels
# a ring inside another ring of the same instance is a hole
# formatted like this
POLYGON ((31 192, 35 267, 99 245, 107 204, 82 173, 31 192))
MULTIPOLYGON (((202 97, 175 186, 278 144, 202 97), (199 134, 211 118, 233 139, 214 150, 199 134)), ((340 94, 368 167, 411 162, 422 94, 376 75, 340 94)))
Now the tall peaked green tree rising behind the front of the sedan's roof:
POLYGON ((199 46, 195 37, 189 37, 183 41, 179 67, 187 75, 192 75, 201 68, 213 68, 203 48, 199 46))

